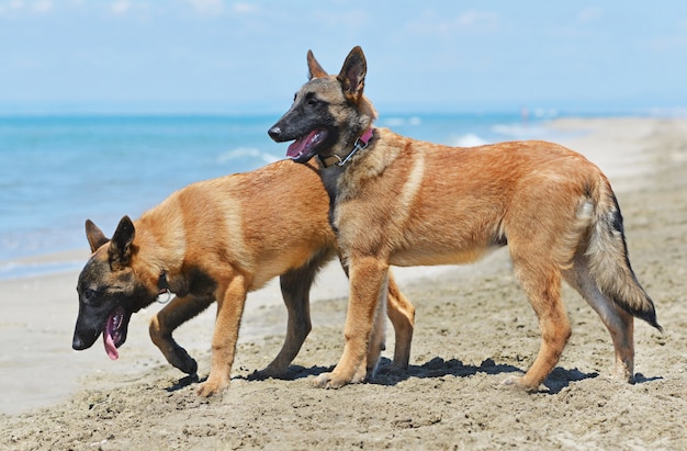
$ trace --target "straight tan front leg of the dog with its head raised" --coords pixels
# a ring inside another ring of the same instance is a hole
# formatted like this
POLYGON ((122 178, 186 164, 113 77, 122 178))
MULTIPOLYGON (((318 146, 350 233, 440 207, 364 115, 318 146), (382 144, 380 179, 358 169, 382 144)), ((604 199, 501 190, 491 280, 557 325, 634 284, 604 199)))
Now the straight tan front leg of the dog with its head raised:
POLYGON ((349 262, 351 289, 344 329, 344 354, 333 372, 317 377, 315 384, 320 387, 338 388, 362 382, 367 375, 368 348, 388 263, 376 257, 350 258, 349 262))

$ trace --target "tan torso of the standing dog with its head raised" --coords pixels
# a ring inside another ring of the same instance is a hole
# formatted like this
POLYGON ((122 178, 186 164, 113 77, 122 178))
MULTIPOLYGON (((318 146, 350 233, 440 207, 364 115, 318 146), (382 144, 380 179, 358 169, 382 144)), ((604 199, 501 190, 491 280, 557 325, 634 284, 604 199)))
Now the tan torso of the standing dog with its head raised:
MULTIPOLYGON (((536 214, 532 222, 556 216, 558 233, 564 234, 587 195, 585 187, 597 182, 598 169, 592 162, 551 143, 454 148, 413 140, 385 128, 375 128, 375 136, 374 157, 360 158, 354 170, 341 176, 336 199, 345 204, 361 190, 365 196, 385 199, 365 205, 369 215, 384 217, 383 236, 356 223, 367 218, 349 215, 347 208, 335 213, 335 224, 344 249, 361 240, 373 246, 383 238, 390 244, 390 261, 396 266, 472 262, 507 244, 509 228, 517 226, 517 211, 536 214), (547 187, 543 191, 542 185, 547 187), (367 233, 359 234, 361 229, 367 233)), ((561 264, 566 264, 572 255, 560 252, 561 264)))

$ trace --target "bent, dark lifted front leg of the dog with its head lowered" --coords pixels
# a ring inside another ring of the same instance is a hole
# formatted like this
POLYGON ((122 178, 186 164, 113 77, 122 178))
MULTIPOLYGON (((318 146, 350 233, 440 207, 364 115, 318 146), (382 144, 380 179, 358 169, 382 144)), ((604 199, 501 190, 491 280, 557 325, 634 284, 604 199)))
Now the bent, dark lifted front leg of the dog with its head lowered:
POLYGON ((213 301, 212 297, 174 297, 150 319, 148 328, 150 339, 169 363, 187 374, 195 375, 198 363, 174 341, 172 332, 177 327, 207 308, 213 301))

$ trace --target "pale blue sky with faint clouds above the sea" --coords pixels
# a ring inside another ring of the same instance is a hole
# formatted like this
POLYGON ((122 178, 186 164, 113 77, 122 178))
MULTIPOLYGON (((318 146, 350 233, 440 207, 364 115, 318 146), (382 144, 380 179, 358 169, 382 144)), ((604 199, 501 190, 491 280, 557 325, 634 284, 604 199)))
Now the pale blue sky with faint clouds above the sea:
POLYGON ((684 0, 0 0, 0 111, 281 112, 354 45, 383 110, 687 108, 684 0))

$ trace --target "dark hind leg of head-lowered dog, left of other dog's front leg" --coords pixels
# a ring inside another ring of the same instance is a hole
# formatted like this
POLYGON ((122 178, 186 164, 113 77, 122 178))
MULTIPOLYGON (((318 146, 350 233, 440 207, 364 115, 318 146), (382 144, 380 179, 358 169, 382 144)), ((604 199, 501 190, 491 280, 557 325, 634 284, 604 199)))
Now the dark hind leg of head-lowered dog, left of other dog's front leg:
POLYGON ((281 350, 264 370, 255 373, 257 379, 285 377, 289 365, 301 350, 305 338, 311 332, 309 294, 319 269, 333 257, 331 252, 323 252, 313 257, 301 268, 291 270, 280 277, 280 286, 289 319, 286 338, 281 350))

